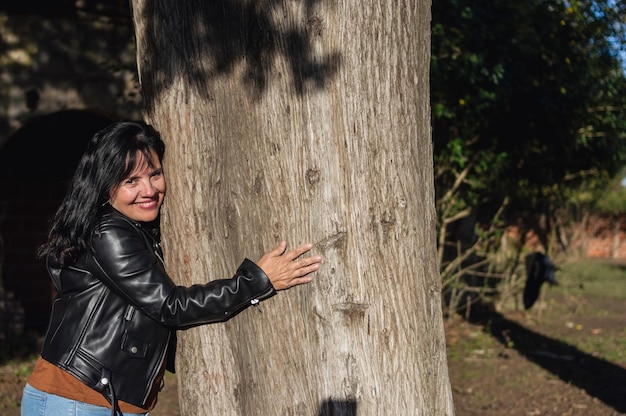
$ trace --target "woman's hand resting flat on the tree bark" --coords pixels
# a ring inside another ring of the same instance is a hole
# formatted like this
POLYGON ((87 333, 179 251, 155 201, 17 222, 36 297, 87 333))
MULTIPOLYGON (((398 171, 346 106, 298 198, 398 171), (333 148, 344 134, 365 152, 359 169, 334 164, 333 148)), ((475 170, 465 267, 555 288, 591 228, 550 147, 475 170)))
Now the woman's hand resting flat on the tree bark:
POLYGON ((307 243, 285 252, 287 242, 281 241, 274 250, 265 253, 257 265, 263 269, 276 290, 309 283, 313 280, 309 273, 320 268, 322 256, 299 257, 312 248, 313 244, 307 243))

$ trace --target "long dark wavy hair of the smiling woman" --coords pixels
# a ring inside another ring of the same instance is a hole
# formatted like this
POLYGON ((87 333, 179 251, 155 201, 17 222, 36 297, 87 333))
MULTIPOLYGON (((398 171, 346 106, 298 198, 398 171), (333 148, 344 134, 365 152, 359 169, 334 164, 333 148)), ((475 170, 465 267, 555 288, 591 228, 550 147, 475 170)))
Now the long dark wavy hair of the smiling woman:
POLYGON ((143 121, 115 122, 97 132, 87 144, 38 256, 52 256, 61 265, 74 263, 90 246, 100 208, 139 162, 137 152, 152 166, 151 150, 163 160, 165 144, 160 134, 143 121))

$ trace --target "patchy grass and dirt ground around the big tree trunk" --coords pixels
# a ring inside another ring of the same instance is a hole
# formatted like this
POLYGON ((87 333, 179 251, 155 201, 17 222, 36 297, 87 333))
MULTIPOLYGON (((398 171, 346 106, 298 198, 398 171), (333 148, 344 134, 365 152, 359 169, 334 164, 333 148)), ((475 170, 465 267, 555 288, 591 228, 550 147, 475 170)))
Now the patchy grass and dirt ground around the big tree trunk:
MULTIPOLYGON (((457 416, 626 415, 626 302, 582 286, 542 293, 529 311, 445 323, 457 416)), ((0 414, 19 415, 31 366, 0 367, 0 414)), ((166 382, 151 416, 179 415, 176 378, 166 382)))

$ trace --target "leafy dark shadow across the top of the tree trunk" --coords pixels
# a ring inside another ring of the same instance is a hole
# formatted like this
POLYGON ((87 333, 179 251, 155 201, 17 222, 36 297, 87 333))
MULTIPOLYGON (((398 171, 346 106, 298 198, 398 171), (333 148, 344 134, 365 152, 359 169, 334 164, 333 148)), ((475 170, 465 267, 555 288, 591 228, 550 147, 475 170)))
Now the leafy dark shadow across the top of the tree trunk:
POLYGON ((315 11, 319 1, 304 0, 301 16, 293 19, 284 18, 289 12, 278 0, 146 2, 145 9, 134 11, 142 13, 145 33, 150 34, 148 55, 141 62, 146 106, 150 108, 175 77, 210 97, 211 80, 232 74, 240 65, 252 98, 265 91, 272 76, 290 76, 299 95, 324 88, 337 71, 340 54, 313 53, 327 24, 315 11), (287 62, 290 74, 276 70, 279 57, 287 62))

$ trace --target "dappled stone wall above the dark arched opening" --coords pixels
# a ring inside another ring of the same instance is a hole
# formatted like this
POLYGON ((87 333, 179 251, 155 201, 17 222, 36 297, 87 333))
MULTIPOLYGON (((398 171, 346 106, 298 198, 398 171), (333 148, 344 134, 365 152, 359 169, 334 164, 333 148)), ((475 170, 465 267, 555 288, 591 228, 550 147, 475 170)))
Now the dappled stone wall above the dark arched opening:
POLYGON ((0 10, 0 147, 29 120, 57 111, 141 116, 126 5, 114 15, 0 10))

